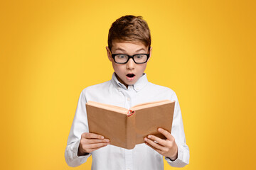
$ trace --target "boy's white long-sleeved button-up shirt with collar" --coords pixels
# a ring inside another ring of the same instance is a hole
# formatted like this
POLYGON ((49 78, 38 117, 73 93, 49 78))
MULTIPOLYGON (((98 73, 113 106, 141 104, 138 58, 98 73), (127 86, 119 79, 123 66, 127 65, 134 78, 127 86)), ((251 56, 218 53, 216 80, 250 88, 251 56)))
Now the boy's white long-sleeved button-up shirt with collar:
POLYGON ((79 166, 85 163, 88 157, 92 156, 92 169, 164 169, 163 156, 144 143, 136 145, 134 149, 124 149, 111 145, 110 141, 110 145, 81 157, 78 157, 78 147, 82 133, 89 132, 85 108, 87 101, 97 101, 129 109, 139 103, 165 99, 176 101, 171 135, 174 136, 178 145, 178 158, 174 161, 171 161, 168 157, 164 157, 164 159, 171 166, 185 166, 189 162, 189 149, 186 145, 181 109, 175 92, 167 87, 150 83, 146 79, 146 74, 143 74, 134 85, 129 85, 126 88, 124 84, 117 80, 114 73, 110 81, 88 86, 82 90, 68 136, 68 145, 65 149, 67 164, 69 166, 79 166))

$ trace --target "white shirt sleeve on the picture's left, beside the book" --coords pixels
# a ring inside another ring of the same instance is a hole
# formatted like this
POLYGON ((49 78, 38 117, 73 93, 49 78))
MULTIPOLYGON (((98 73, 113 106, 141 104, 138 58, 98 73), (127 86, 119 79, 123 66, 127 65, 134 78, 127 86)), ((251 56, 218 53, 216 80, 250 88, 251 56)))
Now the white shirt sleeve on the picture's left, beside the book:
POLYGON ((87 113, 85 108, 85 91, 82 91, 78 99, 78 106, 75 111, 75 118, 68 136, 67 147, 65 148, 65 161, 68 166, 79 166, 87 161, 91 154, 78 157, 78 147, 83 132, 89 132, 87 123, 87 113))

